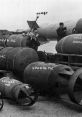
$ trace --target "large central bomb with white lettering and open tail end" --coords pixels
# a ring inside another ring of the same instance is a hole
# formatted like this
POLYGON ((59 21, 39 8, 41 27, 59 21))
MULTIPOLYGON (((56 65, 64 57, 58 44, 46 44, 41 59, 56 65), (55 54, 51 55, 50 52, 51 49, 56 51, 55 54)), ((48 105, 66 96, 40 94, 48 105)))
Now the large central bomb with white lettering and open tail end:
POLYGON ((53 94, 58 89, 66 89, 68 78, 73 74, 73 70, 66 65, 56 65, 53 63, 34 62, 29 64, 24 70, 24 82, 32 85, 43 94, 53 94), (63 85, 65 84, 65 85, 63 85), (61 88, 59 88, 61 85, 61 88))

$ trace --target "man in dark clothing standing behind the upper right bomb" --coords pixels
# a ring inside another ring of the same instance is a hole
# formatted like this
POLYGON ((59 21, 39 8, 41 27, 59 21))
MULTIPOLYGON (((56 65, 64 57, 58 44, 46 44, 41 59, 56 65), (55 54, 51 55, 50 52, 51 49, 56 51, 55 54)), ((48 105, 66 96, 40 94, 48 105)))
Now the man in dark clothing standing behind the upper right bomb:
POLYGON ((59 23, 59 28, 56 31, 57 31, 57 35, 58 35, 57 41, 59 41, 61 38, 66 36, 67 29, 66 29, 66 27, 64 27, 63 22, 59 23))

